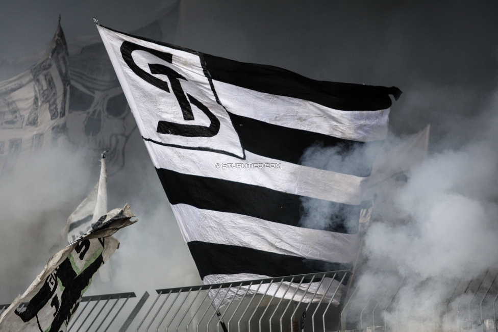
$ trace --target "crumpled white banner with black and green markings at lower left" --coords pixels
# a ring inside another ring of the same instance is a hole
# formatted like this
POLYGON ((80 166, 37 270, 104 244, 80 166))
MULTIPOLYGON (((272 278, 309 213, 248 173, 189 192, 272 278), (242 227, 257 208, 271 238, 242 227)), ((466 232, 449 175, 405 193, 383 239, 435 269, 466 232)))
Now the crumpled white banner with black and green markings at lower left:
POLYGON ((0 330, 65 332, 98 268, 119 246, 111 235, 135 223, 137 220, 130 220, 133 217, 128 205, 114 209, 56 253, 26 292, 0 316, 0 330), (23 302, 28 304, 19 309, 23 302))

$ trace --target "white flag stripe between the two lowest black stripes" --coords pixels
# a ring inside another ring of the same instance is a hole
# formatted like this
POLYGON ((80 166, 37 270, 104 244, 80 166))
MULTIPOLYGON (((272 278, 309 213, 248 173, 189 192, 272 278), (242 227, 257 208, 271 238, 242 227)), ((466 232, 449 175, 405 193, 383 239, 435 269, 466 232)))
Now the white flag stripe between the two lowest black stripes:
POLYGON ((228 244, 307 259, 350 263, 358 235, 289 226, 234 213, 171 206, 186 242, 228 244))

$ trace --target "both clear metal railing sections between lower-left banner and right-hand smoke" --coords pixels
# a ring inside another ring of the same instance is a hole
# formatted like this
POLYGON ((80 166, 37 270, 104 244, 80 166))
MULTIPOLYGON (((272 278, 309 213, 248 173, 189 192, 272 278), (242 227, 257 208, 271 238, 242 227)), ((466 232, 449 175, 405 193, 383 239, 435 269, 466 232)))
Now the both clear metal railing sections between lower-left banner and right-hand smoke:
MULTIPOLYGON (((140 299, 135 293, 85 296, 67 331, 331 331, 350 276, 334 271, 159 289, 150 299, 147 292, 140 299)), ((0 305, 0 314, 8 306, 0 305)))

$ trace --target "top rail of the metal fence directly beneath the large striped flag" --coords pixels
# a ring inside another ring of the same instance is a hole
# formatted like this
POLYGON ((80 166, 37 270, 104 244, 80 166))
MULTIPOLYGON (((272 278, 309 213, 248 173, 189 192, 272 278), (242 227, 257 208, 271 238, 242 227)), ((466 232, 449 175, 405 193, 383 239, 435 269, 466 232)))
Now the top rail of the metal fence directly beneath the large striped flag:
POLYGON ((254 279, 254 280, 244 280, 243 282, 232 282, 232 283, 222 283, 222 284, 211 284, 211 285, 198 285, 198 286, 188 286, 188 287, 177 287, 177 288, 165 288, 165 289, 156 289, 156 292, 159 293, 178 293, 178 292, 184 292, 188 291, 189 289, 192 289, 192 291, 201 291, 201 290, 207 290, 210 287, 212 288, 231 288, 231 287, 238 287, 238 286, 249 286, 251 284, 254 284, 255 282, 261 282, 263 284, 269 284, 272 281, 282 280, 283 282, 290 282, 292 278, 296 277, 305 277, 303 280, 303 283, 310 282, 313 276, 326 276, 326 277, 333 277, 334 274, 336 273, 337 276, 336 278, 341 277, 344 273, 346 272, 351 272, 350 270, 340 270, 340 271, 329 271, 329 272, 318 272, 318 273, 308 273, 308 274, 297 274, 297 275, 287 275, 283 277, 274 277, 274 278, 265 278, 265 279, 254 279), (310 276, 309 278, 306 278, 306 276, 310 276))

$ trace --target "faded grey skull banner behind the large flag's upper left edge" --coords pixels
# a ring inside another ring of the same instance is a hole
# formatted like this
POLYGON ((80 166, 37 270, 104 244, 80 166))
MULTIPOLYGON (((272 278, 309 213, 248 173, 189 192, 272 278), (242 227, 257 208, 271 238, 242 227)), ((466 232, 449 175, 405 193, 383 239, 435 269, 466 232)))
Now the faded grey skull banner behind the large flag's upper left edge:
MULTIPOLYGON (((179 7, 180 1, 173 3, 158 19, 133 34, 171 42, 179 7)), ((94 150, 95 154, 108 150, 107 164, 113 174, 124 167, 124 148, 136 123, 102 40, 98 38, 79 46, 81 51, 69 56, 69 139, 77 146, 94 150)))

